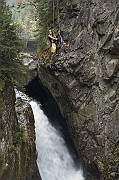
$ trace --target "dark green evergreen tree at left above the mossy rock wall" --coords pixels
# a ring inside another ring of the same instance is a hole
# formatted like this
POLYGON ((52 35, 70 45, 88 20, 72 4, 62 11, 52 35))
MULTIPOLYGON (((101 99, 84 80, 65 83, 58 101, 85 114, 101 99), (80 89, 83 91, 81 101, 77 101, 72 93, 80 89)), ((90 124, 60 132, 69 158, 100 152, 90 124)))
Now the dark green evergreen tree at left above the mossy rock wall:
POLYGON ((9 6, 0 0, 0 79, 12 80, 22 88, 28 75, 28 67, 19 58, 22 42, 17 35, 17 27, 12 21, 9 6))

